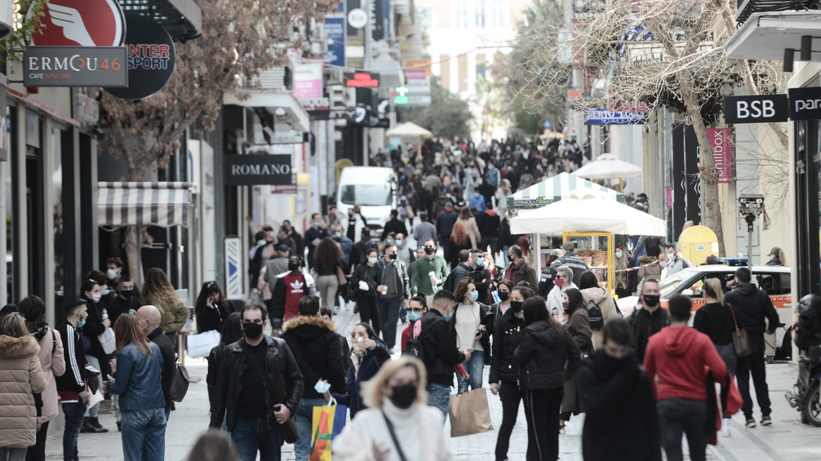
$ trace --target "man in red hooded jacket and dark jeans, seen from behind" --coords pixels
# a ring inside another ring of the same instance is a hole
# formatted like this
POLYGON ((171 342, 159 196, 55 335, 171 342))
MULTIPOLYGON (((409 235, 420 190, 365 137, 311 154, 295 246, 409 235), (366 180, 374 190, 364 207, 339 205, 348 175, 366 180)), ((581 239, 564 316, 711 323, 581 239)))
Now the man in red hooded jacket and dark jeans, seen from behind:
POLYGON ((670 326, 653 335, 644 354, 644 367, 658 400, 658 421, 667 461, 681 461, 681 434, 687 434, 690 459, 704 461, 710 431, 707 373, 723 382, 727 367, 708 335, 687 326, 692 302, 677 294, 670 298, 670 326), (658 381, 657 381, 658 379, 658 381))

